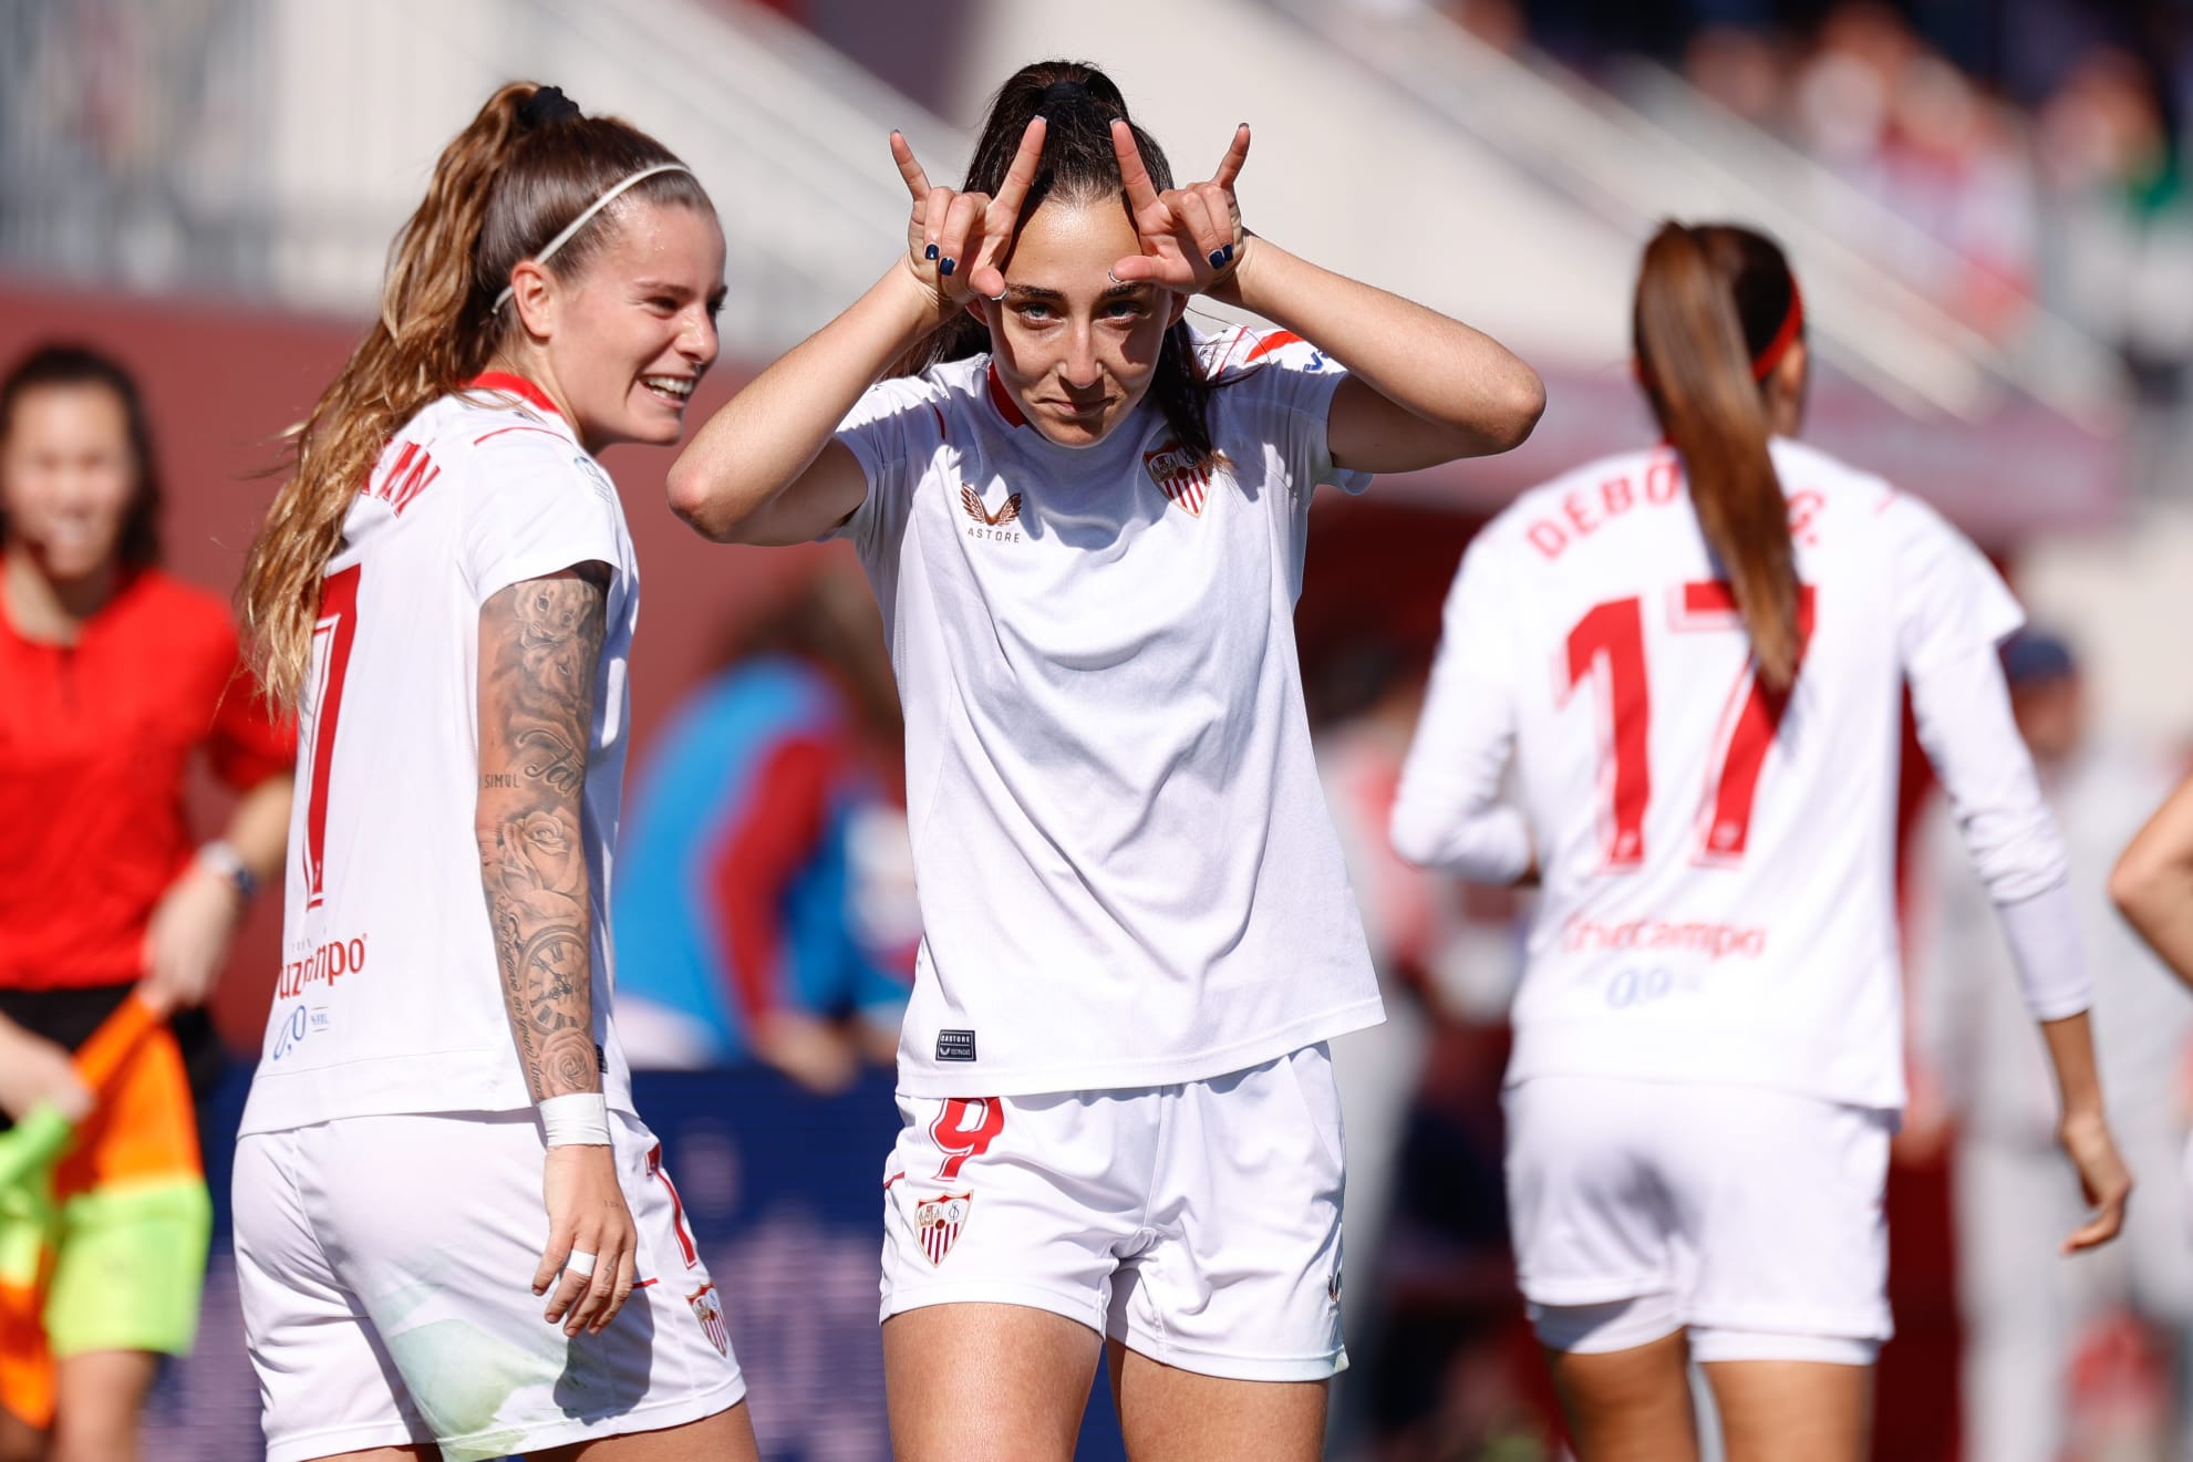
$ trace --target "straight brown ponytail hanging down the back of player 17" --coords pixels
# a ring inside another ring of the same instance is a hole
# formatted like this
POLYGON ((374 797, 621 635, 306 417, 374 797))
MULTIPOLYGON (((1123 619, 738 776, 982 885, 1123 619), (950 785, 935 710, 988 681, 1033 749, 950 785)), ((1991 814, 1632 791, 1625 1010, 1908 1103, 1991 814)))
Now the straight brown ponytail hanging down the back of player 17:
POLYGON ((1682 458, 1697 526, 1770 690, 1796 679, 1803 638, 1789 506, 1768 454, 1754 359, 1796 318, 1796 278, 1761 235, 1662 224, 1645 245, 1634 316, 1645 395, 1682 458))

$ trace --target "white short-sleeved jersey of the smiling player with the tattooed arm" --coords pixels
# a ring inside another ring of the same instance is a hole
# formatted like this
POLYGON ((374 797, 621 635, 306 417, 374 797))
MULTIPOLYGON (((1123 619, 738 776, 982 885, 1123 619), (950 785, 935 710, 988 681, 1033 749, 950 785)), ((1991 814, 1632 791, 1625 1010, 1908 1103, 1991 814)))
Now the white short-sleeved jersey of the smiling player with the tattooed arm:
POLYGON ((607 473, 553 403, 480 377, 382 452, 327 566, 298 721, 283 969, 243 1131, 531 1105, 480 890, 480 605, 577 563, 612 570, 581 848, 533 839, 544 890, 592 903, 594 1041, 610 1024, 610 848, 625 776, 625 660, 640 585, 607 473), (581 861, 583 859, 583 861, 581 861))

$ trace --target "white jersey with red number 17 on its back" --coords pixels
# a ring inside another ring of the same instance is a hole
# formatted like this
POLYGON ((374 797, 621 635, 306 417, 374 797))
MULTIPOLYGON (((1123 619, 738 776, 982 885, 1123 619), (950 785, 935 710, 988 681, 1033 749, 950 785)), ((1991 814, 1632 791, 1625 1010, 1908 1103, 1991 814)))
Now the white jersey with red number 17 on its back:
POLYGON ((1417 861, 1544 896, 1509 1081, 1746 1083, 1901 1107, 1906 679, 1996 903, 2064 881, 1996 642, 2022 614, 1932 509, 1774 441, 1807 627, 1785 706, 1671 447, 1581 467, 1472 544, 1395 809, 1417 861), (1513 756, 1518 804, 1500 802, 1513 756))

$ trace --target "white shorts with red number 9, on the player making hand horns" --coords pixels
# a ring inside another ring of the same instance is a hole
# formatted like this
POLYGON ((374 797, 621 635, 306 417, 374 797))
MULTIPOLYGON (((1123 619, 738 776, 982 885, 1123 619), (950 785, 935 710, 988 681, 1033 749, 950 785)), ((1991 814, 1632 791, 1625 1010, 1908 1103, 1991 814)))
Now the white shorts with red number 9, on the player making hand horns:
POLYGON ((899 1096, 884 1317, 987 1300, 1180 1370, 1325 1381, 1340 1346, 1340 1098, 1325 1046, 1169 1087, 899 1096))

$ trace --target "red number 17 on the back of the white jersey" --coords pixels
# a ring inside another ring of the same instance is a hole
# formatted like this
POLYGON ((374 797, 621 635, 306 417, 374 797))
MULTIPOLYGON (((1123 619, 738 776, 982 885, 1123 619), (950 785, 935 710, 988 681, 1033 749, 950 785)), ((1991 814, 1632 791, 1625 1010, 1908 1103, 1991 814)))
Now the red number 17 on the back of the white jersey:
MULTIPOLYGON (((1682 585, 1678 633, 1743 631, 1737 601, 1724 581, 1682 585)), ((1814 590, 1798 585, 1798 671, 1811 644, 1814 590)), ((1645 612, 1638 596, 1610 598, 1594 605, 1568 631, 1566 682, 1561 697, 1586 679, 1605 675, 1601 697, 1601 783, 1607 791, 1607 872, 1645 864, 1645 809, 1651 804, 1651 679, 1645 666, 1645 612)), ((1752 831, 1752 800, 1759 791, 1759 769, 1768 745, 1781 730, 1787 690, 1768 690, 1750 660, 1730 690, 1735 719, 1722 717, 1722 765, 1700 811, 1700 855, 1704 861, 1732 864, 1743 857, 1752 831), (1741 706, 1737 706, 1737 697, 1741 706)))

